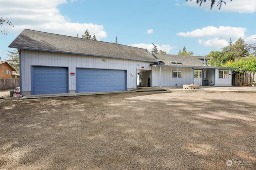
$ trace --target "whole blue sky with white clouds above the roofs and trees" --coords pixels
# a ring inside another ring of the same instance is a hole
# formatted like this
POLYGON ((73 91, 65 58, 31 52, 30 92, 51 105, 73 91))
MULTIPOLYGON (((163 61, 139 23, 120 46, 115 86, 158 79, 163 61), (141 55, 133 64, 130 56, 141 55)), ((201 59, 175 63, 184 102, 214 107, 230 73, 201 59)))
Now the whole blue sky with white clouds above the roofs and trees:
POLYGON ((0 35, 0 57, 22 32, 32 29, 82 37, 86 29, 99 41, 114 42, 152 51, 152 43, 167 54, 186 46, 194 55, 221 51, 241 37, 256 40, 256 0, 226 0, 218 10, 196 0, 0 0, 0 16, 12 21, 0 35))

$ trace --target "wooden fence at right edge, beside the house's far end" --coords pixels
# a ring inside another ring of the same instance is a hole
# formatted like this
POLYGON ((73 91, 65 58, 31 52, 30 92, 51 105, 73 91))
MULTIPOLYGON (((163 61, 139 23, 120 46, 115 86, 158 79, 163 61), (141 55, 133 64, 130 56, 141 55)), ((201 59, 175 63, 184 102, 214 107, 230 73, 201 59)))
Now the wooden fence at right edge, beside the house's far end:
POLYGON ((233 86, 250 86, 250 83, 256 81, 256 72, 244 72, 244 73, 234 73, 232 85, 233 86))

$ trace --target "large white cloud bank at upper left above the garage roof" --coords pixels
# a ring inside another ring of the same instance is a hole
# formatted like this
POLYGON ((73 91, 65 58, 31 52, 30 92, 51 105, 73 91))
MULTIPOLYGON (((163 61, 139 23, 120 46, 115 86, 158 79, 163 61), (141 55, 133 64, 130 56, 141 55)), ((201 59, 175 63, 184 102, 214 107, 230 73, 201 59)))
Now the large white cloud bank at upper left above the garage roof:
POLYGON ((23 29, 34 29, 62 35, 79 37, 86 28, 96 38, 107 37, 103 25, 71 22, 68 16, 62 16, 56 8, 66 0, 1 0, 1 17, 12 21, 14 27, 6 29, 7 33, 20 33, 23 29))

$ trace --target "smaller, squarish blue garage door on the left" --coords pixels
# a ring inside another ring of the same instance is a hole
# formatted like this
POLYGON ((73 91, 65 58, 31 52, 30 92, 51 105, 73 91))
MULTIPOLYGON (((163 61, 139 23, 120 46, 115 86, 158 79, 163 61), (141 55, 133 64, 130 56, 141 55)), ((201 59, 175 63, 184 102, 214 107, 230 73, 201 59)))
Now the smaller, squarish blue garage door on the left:
POLYGON ((33 66, 32 94, 68 93, 68 68, 33 66))

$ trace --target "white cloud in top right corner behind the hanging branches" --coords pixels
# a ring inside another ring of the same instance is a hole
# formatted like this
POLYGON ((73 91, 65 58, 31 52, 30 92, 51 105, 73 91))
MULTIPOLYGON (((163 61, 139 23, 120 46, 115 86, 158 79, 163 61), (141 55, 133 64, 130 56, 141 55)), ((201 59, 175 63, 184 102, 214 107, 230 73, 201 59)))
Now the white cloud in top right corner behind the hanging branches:
MULTIPOLYGON (((217 1, 218 2, 218 1, 217 1)), ((256 0, 225 0, 226 5, 222 3, 220 10, 218 10, 217 4, 215 3, 212 11, 220 11, 220 12, 239 12, 239 13, 254 13, 256 12, 256 0)), ((210 11, 210 1, 203 2, 201 7, 199 4, 196 4, 196 0, 187 1, 184 4, 188 6, 197 6, 198 8, 202 8, 204 10, 210 11)))

